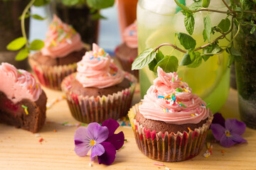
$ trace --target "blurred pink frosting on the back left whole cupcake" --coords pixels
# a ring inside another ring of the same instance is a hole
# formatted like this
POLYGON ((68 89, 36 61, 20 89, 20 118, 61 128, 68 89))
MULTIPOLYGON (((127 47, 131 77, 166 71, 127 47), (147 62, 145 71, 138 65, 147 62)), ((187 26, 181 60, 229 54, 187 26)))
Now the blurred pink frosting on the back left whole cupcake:
POLYGON ((45 45, 41 49, 43 55, 50 57, 65 57, 70 52, 82 49, 82 40, 74 28, 63 23, 58 16, 53 16, 48 32, 46 33, 45 45))

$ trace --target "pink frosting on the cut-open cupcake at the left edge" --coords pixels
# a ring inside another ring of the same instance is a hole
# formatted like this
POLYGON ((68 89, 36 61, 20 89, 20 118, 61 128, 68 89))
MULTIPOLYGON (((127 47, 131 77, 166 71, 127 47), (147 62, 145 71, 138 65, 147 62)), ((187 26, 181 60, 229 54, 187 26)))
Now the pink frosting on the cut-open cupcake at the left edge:
POLYGON ((41 85, 32 74, 4 62, 0 65, 0 84, 0 91, 14 103, 23 98, 37 101, 42 93, 41 85))

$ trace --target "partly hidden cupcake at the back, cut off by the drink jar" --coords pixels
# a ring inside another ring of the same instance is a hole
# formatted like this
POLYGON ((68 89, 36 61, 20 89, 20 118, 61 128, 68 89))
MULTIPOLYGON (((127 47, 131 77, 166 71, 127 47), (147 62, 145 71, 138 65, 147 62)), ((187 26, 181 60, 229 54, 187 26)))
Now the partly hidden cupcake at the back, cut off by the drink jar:
POLYGON ((135 77, 139 78, 139 71, 132 70, 132 62, 138 55, 138 38, 137 38, 137 23, 134 22, 132 25, 125 28, 124 42, 117 46, 115 55, 122 65, 124 71, 134 74, 135 77))

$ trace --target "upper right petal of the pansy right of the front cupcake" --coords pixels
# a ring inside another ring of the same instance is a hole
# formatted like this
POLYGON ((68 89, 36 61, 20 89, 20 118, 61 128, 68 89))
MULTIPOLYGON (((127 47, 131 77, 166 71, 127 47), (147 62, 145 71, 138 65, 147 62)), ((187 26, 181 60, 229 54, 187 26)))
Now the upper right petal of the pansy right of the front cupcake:
POLYGON ((246 125, 237 119, 228 118, 225 122, 225 128, 229 130, 231 134, 242 135, 245 132, 246 125))

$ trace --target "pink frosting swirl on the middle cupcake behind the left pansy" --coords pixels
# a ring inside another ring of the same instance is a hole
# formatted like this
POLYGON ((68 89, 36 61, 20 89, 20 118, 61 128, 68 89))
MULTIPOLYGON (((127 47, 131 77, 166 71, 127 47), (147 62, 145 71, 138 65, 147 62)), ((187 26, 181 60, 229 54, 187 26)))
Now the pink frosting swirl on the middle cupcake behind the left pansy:
POLYGON ((119 84, 124 79, 124 74, 96 44, 92 51, 85 52, 82 60, 78 62, 76 79, 83 87, 97 87, 103 89, 119 84))

